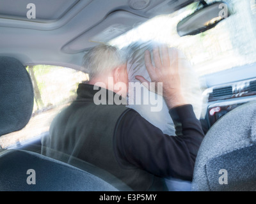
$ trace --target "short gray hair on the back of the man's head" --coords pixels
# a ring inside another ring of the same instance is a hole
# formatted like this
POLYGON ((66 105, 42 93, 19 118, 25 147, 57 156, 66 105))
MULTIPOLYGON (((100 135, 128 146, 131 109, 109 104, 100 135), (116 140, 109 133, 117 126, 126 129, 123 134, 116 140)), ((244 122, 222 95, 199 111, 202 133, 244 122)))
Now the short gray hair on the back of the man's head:
POLYGON ((83 68, 89 74, 90 80, 105 75, 126 64, 125 54, 111 45, 97 45, 83 57, 83 68))

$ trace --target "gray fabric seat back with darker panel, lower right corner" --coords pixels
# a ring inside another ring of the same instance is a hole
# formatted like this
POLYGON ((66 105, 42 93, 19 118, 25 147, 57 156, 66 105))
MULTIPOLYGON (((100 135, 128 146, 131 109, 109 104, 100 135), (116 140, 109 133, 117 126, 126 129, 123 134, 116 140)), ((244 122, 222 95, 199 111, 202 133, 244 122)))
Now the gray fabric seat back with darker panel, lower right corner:
POLYGON ((222 117, 196 157, 193 191, 256 191, 256 102, 222 117))

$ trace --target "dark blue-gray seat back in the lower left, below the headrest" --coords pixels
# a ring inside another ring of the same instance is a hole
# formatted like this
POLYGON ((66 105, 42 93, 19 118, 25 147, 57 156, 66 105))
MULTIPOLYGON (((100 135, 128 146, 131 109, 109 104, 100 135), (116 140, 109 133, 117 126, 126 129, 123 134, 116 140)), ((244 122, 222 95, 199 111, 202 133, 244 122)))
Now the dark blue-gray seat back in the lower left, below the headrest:
POLYGON ((117 191, 86 171, 24 150, 0 154, 0 181, 0 191, 117 191))

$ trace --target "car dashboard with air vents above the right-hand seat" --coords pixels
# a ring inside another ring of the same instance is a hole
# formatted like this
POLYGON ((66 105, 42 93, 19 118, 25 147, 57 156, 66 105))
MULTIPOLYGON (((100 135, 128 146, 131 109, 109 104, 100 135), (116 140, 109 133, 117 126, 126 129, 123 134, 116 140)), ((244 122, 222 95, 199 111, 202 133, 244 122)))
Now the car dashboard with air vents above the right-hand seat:
POLYGON ((256 64, 214 73, 204 80, 207 84, 205 129, 238 106, 256 100, 256 64))

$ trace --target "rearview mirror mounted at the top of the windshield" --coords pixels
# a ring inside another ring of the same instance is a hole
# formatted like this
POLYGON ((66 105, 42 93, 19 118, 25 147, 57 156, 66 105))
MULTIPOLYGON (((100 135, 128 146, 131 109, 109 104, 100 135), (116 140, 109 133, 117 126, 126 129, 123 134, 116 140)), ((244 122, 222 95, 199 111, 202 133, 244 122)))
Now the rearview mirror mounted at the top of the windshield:
POLYGON ((229 15, 228 4, 223 1, 205 4, 203 8, 181 20, 177 25, 177 32, 180 37, 202 33, 212 29, 229 15))

